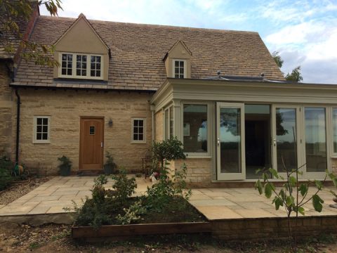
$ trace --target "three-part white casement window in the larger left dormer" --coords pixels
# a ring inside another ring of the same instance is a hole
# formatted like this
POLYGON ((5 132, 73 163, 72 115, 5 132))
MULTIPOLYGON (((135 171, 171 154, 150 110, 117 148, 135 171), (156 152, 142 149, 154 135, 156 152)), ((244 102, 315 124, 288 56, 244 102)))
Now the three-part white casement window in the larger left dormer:
POLYGON ((86 53, 60 53, 59 77, 103 79, 103 56, 86 53))

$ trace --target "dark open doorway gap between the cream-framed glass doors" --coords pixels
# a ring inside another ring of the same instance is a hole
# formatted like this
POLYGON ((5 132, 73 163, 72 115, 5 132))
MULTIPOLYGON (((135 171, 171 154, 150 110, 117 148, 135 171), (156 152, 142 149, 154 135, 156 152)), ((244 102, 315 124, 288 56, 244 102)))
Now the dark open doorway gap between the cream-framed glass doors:
POLYGON ((257 169, 271 164, 270 105, 244 105, 246 179, 260 178, 257 169))

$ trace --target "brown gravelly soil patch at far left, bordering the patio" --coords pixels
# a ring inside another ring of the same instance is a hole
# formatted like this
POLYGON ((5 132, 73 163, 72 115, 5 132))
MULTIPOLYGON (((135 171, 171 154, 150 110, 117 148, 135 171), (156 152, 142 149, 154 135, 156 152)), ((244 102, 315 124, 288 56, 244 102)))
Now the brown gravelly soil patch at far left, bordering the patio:
POLYGON ((39 179, 37 177, 28 178, 25 181, 15 181, 6 190, 0 192, 0 205, 7 205, 14 200, 29 193, 31 190, 41 186, 48 181, 48 178, 39 179))

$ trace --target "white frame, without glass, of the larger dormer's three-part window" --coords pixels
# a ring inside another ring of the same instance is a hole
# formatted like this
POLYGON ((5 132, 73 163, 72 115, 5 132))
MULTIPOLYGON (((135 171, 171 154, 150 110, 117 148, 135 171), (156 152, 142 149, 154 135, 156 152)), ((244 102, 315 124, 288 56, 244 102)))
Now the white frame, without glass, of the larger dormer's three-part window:
POLYGON ((90 54, 90 53, 71 53, 71 52, 60 52, 59 53, 59 63, 58 67, 58 77, 61 78, 72 78, 72 79, 96 79, 103 80, 103 55, 100 54, 90 54), (62 74, 62 54, 71 54, 72 55, 72 75, 62 74), (76 74, 76 62, 77 56, 86 56, 86 76, 81 76, 76 74), (100 77, 91 77, 91 56, 100 56, 100 77))

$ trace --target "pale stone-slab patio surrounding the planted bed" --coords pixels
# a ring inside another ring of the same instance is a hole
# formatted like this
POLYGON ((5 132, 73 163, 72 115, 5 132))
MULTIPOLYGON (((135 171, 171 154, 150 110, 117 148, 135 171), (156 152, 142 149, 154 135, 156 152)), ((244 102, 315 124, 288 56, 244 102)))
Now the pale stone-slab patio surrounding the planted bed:
MULTIPOLYGON (((10 204, 0 207, 0 216, 65 213, 63 207, 72 207, 72 201, 81 205, 81 199, 91 196, 93 176, 55 177, 10 204)), ((151 183, 137 180, 136 195, 143 194, 151 183)), ((107 183, 112 186, 112 180, 107 183)), ((310 192, 315 190, 312 188, 310 192)), ((323 212, 318 213, 311 202, 305 205, 307 216, 337 215, 337 209, 329 193, 319 194, 324 200, 323 212)), ((253 188, 200 188, 192 190, 190 203, 208 219, 240 219, 286 216, 283 207, 276 211, 271 200, 258 194, 253 188)))

